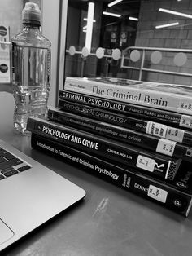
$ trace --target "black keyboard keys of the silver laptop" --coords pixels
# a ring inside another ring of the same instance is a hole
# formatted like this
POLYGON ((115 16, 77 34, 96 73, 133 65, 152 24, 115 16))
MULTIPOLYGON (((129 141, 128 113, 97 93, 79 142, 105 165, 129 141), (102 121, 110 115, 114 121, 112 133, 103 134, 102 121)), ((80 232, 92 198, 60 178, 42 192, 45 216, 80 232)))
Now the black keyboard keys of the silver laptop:
POLYGON ((7 150, 0 148, 0 179, 6 179, 30 168, 31 166, 20 158, 15 157, 7 150))

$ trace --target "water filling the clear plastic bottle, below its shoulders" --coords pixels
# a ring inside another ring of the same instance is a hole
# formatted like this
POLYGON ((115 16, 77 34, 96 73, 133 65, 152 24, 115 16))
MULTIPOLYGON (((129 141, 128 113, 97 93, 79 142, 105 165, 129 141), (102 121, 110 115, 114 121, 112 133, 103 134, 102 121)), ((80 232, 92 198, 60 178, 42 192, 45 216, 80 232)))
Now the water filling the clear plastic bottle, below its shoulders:
POLYGON ((13 44, 14 126, 24 134, 29 116, 46 117, 50 49, 13 44))

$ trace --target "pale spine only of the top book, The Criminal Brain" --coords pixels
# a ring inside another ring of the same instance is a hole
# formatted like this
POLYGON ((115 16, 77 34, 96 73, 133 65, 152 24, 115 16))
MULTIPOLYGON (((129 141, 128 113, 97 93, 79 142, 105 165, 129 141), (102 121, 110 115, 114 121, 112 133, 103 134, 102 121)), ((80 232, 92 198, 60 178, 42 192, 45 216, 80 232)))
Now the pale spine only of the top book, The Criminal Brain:
POLYGON ((160 90, 142 90, 137 86, 118 86, 104 82, 93 82, 67 77, 64 89, 76 91, 84 95, 96 95, 101 98, 116 99, 120 102, 150 106, 176 113, 192 114, 192 97, 172 95, 160 90))

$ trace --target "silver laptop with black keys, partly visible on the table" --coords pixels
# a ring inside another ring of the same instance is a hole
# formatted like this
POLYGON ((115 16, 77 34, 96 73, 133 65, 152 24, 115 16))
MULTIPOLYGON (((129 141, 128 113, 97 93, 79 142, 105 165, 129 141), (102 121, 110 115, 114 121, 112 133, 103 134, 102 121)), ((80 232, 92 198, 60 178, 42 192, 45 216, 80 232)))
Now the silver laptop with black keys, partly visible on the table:
POLYGON ((0 251, 80 201, 85 191, 0 140, 0 251))

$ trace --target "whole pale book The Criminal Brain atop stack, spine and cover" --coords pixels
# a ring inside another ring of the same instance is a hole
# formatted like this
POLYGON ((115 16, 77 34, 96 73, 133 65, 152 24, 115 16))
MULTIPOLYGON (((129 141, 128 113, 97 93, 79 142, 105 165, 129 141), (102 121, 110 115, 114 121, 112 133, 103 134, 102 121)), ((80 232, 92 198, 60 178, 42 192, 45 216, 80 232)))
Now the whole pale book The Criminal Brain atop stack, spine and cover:
POLYGON ((121 102, 192 115, 190 86, 138 82, 111 77, 67 77, 64 89, 84 95, 96 95, 100 98, 116 99, 121 102))

